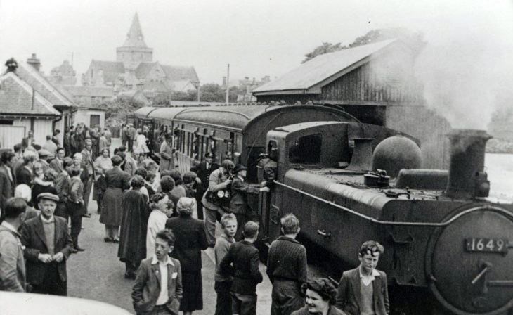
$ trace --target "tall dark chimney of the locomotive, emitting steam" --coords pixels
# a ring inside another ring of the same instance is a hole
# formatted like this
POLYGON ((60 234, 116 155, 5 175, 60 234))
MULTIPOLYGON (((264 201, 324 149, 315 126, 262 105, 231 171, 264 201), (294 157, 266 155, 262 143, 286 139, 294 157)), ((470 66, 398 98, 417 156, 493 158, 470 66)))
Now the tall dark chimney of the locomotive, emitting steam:
POLYGON ((490 182, 484 169, 485 130, 453 129, 450 141, 449 179, 446 195, 450 198, 487 197, 490 182))

